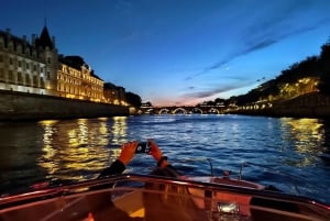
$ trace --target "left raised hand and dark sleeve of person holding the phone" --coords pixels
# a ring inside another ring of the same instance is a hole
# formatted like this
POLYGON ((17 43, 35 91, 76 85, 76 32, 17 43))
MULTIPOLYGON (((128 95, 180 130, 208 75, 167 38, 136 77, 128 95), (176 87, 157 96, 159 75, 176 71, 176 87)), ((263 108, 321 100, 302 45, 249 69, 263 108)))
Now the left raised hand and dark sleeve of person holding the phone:
POLYGON ((110 167, 102 170, 98 178, 123 173, 127 168, 127 165, 134 157, 136 146, 136 141, 123 144, 121 146, 121 153, 119 158, 114 161, 110 167))

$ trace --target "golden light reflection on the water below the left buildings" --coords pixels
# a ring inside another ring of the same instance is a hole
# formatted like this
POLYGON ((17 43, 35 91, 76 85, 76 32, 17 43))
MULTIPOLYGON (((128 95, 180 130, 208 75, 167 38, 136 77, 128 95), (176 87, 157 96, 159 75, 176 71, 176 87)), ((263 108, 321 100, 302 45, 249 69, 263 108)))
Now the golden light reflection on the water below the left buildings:
POLYGON ((37 164, 50 180, 95 178, 120 154, 116 145, 127 142, 127 119, 78 119, 64 123, 41 121, 44 129, 43 154, 37 164))

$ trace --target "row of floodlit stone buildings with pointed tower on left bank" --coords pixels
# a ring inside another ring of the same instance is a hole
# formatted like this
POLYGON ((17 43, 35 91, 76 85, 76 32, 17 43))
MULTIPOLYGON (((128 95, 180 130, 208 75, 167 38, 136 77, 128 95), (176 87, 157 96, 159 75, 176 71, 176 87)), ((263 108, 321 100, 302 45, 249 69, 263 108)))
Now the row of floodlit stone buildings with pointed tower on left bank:
POLYGON ((46 26, 31 43, 0 31, 0 90, 127 104, 125 89, 105 85, 82 57, 58 55, 46 26))

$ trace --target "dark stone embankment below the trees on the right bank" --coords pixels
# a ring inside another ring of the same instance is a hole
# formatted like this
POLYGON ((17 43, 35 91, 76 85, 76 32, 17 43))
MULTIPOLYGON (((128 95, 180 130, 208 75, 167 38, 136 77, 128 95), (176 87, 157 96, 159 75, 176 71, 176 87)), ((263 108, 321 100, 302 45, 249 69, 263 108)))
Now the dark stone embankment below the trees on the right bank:
POLYGON ((262 110, 238 110, 235 114, 288 117, 288 118, 330 118, 330 98, 317 92, 299 96, 273 103, 262 110))

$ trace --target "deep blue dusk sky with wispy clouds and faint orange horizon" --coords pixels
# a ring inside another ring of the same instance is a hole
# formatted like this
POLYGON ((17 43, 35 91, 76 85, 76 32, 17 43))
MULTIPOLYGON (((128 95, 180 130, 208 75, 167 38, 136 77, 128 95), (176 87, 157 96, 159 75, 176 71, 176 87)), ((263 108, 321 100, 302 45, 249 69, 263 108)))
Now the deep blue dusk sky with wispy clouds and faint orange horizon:
POLYGON ((0 30, 40 35, 154 106, 245 95, 330 37, 329 0, 11 0, 0 30))

